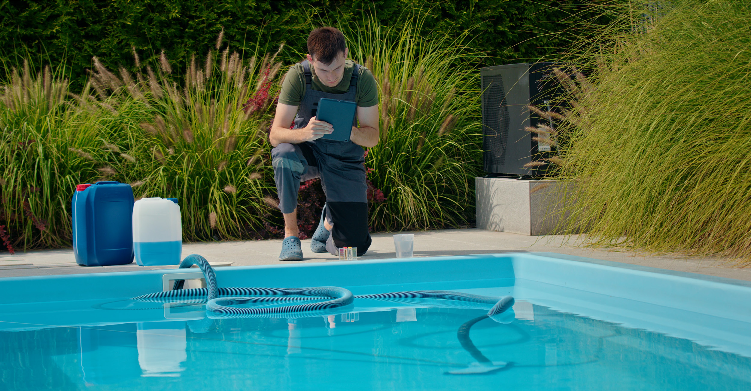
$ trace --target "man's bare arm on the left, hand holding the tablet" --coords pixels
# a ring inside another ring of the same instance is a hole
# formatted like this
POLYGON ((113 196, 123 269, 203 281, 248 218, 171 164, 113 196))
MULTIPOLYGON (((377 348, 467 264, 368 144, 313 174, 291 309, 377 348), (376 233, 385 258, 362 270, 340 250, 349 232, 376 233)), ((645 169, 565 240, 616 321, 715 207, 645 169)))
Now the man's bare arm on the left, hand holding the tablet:
MULTIPOLYGON (((294 115, 297 114, 297 108, 298 106, 283 105, 282 103, 276 105, 274 123, 271 125, 269 132, 269 141, 273 147, 282 143, 300 144, 303 141, 312 141, 333 132, 333 126, 330 123, 315 120, 315 117, 312 117, 308 125, 302 129, 289 129, 294 120, 294 115)), ((376 113, 375 116, 377 120, 378 114, 376 113)))

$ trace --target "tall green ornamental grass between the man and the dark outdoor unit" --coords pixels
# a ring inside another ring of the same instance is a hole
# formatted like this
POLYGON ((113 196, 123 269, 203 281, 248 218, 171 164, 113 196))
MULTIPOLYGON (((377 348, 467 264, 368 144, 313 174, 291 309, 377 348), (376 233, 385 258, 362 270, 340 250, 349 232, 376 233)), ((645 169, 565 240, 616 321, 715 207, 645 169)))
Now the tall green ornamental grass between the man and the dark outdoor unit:
POLYGON ((339 26, 355 62, 379 83, 379 144, 366 166, 385 202, 370 205, 378 231, 447 228, 475 218, 482 172, 481 93, 471 32, 421 37, 424 19, 398 30, 368 20, 339 26))

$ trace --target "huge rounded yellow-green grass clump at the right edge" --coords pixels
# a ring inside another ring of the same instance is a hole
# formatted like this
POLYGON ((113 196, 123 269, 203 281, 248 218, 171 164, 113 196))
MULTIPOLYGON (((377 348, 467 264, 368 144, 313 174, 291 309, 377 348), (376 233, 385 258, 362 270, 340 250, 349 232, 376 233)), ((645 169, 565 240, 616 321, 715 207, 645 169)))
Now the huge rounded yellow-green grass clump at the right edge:
POLYGON ((628 2, 582 41, 556 171, 587 243, 751 260, 751 5, 628 2), (659 5, 656 7, 655 5, 659 5))

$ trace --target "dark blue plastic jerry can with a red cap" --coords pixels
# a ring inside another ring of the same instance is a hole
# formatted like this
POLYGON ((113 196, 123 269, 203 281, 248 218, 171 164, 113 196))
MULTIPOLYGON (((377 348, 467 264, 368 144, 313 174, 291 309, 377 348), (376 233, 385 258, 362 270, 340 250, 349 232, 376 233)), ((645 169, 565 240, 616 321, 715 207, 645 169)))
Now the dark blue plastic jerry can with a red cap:
POLYGON ((133 189, 115 181, 76 186, 73 195, 73 253, 79 265, 133 262, 133 189))

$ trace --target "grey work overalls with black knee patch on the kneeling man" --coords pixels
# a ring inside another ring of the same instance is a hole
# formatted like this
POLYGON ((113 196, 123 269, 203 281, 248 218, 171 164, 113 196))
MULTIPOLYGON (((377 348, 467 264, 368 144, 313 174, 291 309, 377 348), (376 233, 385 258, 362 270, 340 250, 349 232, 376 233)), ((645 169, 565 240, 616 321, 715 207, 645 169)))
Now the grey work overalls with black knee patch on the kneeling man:
MULTIPOLYGON (((302 65, 305 71, 305 97, 294 118, 294 129, 304 128, 310 118, 315 117, 318 99, 355 102, 359 64, 354 65, 349 91, 343 94, 311 89, 310 64, 306 60, 302 65)), ((300 144, 282 143, 271 150, 279 209, 282 213, 291 213, 297 208, 297 192, 301 181, 321 178, 321 186, 326 194, 326 216, 333 226, 326 242, 326 250, 336 256, 339 255, 338 247, 357 247, 358 256, 370 247, 363 155, 363 148, 352 141, 324 138, 300 144)))

